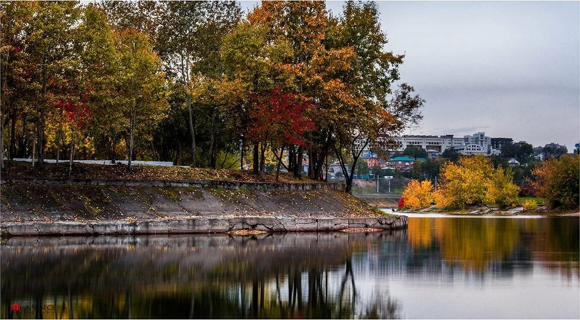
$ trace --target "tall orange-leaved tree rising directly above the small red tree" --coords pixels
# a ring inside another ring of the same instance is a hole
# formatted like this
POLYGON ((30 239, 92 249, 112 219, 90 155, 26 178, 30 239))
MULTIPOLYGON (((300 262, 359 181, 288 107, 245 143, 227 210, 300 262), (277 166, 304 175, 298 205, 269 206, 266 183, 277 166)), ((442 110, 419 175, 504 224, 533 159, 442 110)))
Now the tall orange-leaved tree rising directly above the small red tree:
POLYGON ((349 59, 324 45, 329 17, 324 2, 320 1, 264 1, 248 14, 248 20, 255 26, 267 30, 268 40, 288 44, 289 52, 282 61, 292 74, 292 89, 316 104, 320 117, 316 121, 318 130, 311 132, 306 146, 288 146, 288 169, 299 177, 302 174, 302 160, 305 148, 309 155, 309 175, 321 179, 322 163, 331 145, 331 130, 327 123, 327 106, 322 96, 325 83, 332 76, 325 77, 320 71, 333 72, 332 67, 344 66, 349 59), (335 65, 332 65, 335 63, 335 65), (322 65, 324 64, 324 66, 322 65))

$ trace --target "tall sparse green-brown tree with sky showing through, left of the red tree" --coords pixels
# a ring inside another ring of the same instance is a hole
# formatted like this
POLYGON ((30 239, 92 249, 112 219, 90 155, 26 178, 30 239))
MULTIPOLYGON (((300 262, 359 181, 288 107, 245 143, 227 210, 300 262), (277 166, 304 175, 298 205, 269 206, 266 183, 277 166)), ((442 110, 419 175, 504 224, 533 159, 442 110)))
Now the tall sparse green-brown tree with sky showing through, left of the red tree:
POLYGON ((211 136, 208 165, 215 167, 218 106, 212 103, 214 99, 201 99, 215 96, 215 90, 200 93, 200 89, 211 89, 208 84, 215 83, 212 79, 223 74, 219 50, 224 35, 240 20, 240 13, 240 7, 234 1, 166 1, 161 8, 156 49, 164 61, 166 73, 174 80, 174 91, 185 97, 192 166, 198 166, 196 128, 202 126, 205 129, 204 124, 208 124, 211 127, 208 130, 211 136), (204 84, 205 88, 199 88, 200 80, 204 79, 208 83, 204 84), (197 90, 200 99, 193 99, 192 90, 197 90), (205 116, 209 116, 211 121, 206 121, 205 116))

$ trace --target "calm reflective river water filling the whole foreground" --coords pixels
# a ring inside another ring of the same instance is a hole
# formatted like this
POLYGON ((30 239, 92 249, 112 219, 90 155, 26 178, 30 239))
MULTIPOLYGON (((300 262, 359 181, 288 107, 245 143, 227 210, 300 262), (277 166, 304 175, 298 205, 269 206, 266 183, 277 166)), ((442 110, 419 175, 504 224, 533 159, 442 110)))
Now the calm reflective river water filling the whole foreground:
POLYGON ((2 318, 580 318, 579 219, 408 230, 11 238, 2 318), (10 311, 13 304, 20 311, 10 311))

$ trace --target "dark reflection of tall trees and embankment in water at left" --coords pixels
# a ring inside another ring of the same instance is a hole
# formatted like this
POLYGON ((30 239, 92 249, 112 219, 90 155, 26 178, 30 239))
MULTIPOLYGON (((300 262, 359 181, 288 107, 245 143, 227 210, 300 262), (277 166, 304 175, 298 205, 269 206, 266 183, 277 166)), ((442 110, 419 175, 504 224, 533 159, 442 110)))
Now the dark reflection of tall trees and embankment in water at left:
POLYGON ((390 235, 12 238, 2 245, 1 315, 394 318, 387 288, 361 300, 353 271, 353 253, 383 237, 390 235), (12 303, 45 309, 11 312, 12 303))

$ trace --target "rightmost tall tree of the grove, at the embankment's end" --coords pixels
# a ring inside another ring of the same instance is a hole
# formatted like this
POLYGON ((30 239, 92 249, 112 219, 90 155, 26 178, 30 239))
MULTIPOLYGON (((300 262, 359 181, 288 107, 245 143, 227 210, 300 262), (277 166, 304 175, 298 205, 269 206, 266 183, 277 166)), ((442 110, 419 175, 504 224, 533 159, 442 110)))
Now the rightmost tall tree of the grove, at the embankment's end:
MULTIPOLYGON (((351 64, 354 75, 347 76, 343 83, 349 83, 351 97, 358 100, 361 111, 356 115, 346 112, 352 116, 349 121, 334 126, 339 161, 343 150, 349 150, 357 161, 367 146, 378 151, 393 148, 393 136, 421 119, 418 111, 425 101, 418 95, 413 96, 414 88, 406 83, 391 96, 391 83, 399 78, 398 66, 403 63, 403 56, 383 51, 387 38, 380 30, 376 4, 347 2, 332 43, 354 50, 351 64)), ((351 179, 346 172, 343 166, 349 191, 351 179)))

